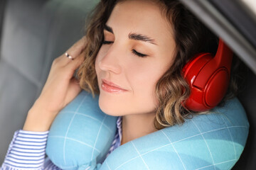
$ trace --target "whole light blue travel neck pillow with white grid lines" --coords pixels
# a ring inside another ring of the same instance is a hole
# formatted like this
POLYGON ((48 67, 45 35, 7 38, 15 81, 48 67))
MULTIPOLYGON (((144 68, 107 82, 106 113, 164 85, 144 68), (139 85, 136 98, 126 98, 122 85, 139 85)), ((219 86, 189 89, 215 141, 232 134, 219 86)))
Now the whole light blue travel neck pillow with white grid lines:
POLYGON ((234 98, 211 112, 127 142, 105 159, 117 117, 102 113, 98 96, 82 91, 55 118, 46 154, 61 169, 231 169, 247 140, 245 111, 234 98))

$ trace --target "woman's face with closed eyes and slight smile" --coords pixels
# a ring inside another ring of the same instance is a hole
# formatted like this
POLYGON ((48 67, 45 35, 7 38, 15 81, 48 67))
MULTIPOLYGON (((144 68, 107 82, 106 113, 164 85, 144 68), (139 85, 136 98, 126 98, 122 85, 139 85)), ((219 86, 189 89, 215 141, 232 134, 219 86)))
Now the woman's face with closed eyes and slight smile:
POLYGON ((99 105, 109 115, 155 113, 156 82, 174 60, 169 21, 151 1, 117 4, 104 30, 95 68, 99 105))

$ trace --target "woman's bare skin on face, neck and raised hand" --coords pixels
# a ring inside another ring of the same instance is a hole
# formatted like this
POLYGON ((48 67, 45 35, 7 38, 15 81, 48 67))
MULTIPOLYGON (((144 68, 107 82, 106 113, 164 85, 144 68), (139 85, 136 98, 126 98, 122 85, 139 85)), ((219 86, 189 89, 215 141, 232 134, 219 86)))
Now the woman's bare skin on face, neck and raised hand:
MULTIPOLYGON (((105 40, 95 63, 100 86, 100 108, 109 115, 122 115, 122 145, 156 131, 153 125, 157 106, 154 88, 159 78, 171 67, 175 42, 169 21, 159 6, 151 1, 124 1, 115 6, 107 21, 112 32, 105 30, 105 40), (130 33, 149 37, 151 42, 132 40, 130 33), (133 50, 145 54, 139 57, 133 50), (122 93, 102 91, 102 79, 126 89, 122 93)), ((86 38, 53 61, 41 95, 28 111, 23 130, 43 132, 50 129, 55 116, 78 96, 80 86, 73 77, 83 62, 86 38)))

